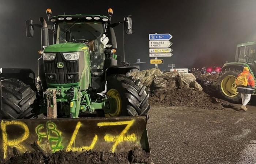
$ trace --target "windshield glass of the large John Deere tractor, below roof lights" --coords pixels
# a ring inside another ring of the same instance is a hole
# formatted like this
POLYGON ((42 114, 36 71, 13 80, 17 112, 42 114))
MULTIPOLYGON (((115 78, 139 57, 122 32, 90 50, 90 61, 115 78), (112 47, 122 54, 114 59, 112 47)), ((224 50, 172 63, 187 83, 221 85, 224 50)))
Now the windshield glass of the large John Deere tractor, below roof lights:
POLYGON ((101 22, 60 22, 57 24, 56 43, 86 43, 92 69, 103 69, 105 55, 100 39, 104 32, 105 26, 101 22))

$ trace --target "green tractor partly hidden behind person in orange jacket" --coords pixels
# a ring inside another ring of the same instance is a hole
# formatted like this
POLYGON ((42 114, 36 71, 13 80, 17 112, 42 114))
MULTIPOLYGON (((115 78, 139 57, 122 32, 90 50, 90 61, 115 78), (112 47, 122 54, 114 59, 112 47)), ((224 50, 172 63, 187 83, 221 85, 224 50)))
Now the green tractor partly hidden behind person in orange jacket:
MULTIPOLYGON (((237 44, 235 62, 225 63, 218 80, 217 90, 222 98, 233 103, 241 102, 235 80, 244 67, 248 67, 252 76, 256 74, 256 42, 237 44)), ((254 94, 256 91, 254 91, 254 94)))

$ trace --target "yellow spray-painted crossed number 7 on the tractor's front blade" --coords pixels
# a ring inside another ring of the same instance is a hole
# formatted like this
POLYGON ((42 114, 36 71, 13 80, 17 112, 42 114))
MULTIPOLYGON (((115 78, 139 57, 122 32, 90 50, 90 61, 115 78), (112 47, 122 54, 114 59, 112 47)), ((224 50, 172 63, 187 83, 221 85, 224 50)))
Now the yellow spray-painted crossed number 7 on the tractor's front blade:
POLYGON ((127 131, 131 128, 134 120, 131 121, 117 121, 117 122, 99 122, 98 126, 114 126, 114 125, 127 125, 124 130, 118 136, 112 136, 111 134, 106 134, 104 136, 105 141, 107 142, 114 142, 111 150, 114 152, 116 150, 117 145, 120 142, 124 141, 136 141, 136 135, 133 133, 131 135, 126 135, 127 131))

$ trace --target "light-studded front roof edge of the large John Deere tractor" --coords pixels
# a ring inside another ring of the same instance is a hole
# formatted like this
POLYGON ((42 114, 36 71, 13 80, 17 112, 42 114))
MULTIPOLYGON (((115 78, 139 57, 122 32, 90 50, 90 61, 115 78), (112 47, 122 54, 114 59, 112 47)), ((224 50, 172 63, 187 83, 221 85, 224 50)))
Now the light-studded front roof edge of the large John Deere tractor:
POLYGON ((74 21, 80 19, 87 20, 87 21, 102 21, 102 22, 108 22, 110 19, 107 16, 104 15, 83 15, 83 14, 75 14, 75 15, 58 15, 58 16, 52 16, 50 18, 51 22, 59 22, 59 21, 74 21))

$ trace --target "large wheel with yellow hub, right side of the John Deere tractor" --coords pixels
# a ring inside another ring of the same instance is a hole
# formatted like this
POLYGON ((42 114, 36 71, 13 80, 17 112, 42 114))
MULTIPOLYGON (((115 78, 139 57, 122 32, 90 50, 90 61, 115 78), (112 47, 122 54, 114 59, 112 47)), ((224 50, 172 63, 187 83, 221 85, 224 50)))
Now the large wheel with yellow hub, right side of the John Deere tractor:
POLYGON ((107 89, 110 112, 105 114, 106 117, 147 115, 149 95, 140 80, 114 75, 108 78, 107 89))

